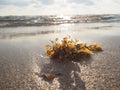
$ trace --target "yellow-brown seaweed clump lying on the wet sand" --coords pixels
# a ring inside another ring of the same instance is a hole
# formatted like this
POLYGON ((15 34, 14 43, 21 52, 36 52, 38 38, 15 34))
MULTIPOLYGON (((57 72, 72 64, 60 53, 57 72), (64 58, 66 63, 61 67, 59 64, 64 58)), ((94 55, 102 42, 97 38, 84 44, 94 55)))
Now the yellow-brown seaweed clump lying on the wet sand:
POLYGON ((93 51, 102 51, 99 44, 79 43, 78 40, 64 37, 61 42, 56 38, 54 41, 50 40, 52 45, 46 45, 46 53, 51 58, 59 60, 79 60, 81 57, 91 56, 93 51))

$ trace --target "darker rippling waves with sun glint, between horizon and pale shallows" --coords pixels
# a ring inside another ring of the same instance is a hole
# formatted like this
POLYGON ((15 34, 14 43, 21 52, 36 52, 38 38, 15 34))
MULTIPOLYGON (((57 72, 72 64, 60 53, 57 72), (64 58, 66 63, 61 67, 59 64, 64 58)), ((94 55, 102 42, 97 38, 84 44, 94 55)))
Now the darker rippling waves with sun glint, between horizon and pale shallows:
POLYGON ((74 15, 74 16, 0 16, 0 27, 13 26, 48 26, 73 23, 120 23, 119 14, 74 15))

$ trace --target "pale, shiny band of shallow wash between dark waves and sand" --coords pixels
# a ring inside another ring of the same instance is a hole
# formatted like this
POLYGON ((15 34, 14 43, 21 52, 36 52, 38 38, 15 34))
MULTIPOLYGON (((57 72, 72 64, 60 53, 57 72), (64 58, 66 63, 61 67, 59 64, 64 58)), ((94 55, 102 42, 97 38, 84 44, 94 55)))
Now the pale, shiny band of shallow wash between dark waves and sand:
MULTIPOLYGON (((61 24, 53 26, 26 26, 26 27, 4 27, 0 28, 0 39, 12 39, 27 36, 47 35, 47 34, 58 34, 58 33, 80 33, 81 31, 92 31, 95 30, 119 30, 120 25, 116 23, 80 23, 80 24, 61 24)), ((90 32, 89 32, 90 33, 90 32)))

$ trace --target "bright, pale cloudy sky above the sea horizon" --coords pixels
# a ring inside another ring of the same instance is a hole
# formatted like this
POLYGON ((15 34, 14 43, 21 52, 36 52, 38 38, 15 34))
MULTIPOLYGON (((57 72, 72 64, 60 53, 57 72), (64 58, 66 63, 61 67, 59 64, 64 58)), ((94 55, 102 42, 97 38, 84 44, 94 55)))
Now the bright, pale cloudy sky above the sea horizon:
POLYGON ((0 0, 0 16, 120 14, 120 0, 0 0))

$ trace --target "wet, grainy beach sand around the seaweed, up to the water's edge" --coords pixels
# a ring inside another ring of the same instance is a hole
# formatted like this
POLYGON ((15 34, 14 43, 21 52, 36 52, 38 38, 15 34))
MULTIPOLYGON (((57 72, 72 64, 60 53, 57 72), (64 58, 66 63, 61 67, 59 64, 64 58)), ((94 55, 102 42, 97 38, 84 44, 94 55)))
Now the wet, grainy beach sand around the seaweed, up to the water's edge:
POLYGON ((0 90, 119 90, 120 31, 92 30, 22 36, 0 40, 0 90), (103 52, 86 62, 55 62, 45 55, 50 38, 71 35, 99 43, 103 52), (60 73, 52 81, 44 73, 60 73))

